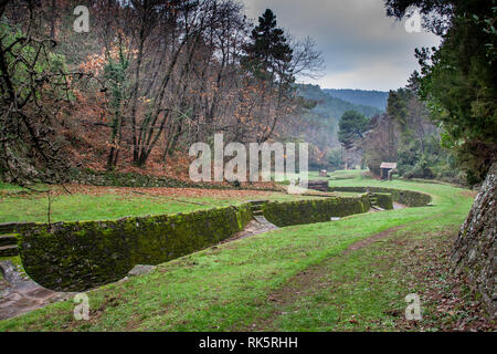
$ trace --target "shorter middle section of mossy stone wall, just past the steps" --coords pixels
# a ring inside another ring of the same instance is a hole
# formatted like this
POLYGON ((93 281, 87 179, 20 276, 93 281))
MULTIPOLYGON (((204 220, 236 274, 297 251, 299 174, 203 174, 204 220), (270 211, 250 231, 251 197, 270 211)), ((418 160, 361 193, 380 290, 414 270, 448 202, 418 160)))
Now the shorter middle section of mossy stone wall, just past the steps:
POLYGON ((278 227, 330 221, 367 212, 370 202, 367 195, 350 198, 326 198, 292 202, 268 202, 262 207, 264 217, 278 227))

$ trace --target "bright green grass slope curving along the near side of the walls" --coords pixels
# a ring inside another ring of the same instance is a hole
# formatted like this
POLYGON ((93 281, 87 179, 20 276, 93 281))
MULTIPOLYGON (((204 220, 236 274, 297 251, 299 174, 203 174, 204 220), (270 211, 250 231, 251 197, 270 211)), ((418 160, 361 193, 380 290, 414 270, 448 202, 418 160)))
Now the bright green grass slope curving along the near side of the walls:
POLYGON ((408 282, 413 277, 396 267, 402 263, 396 257, 405 252, 395 250, 405 249, 392 248, 383 239, 345 251, 395 227, 390 239, 420 240, 430 248, 430 237, 446 238, 457 230, 472 195, 436 184, 360 178, 332 184, 419 190, 431 194, 436 206, 289 227, 212 248, 165 263, 149 275, 91 292, 89 321, 73 320, 74 304, 63 302, 0 321, 0 331, 393 330, 396 317, 389 311, 405 308, 405 294, 422 287, 408 282), (297 274, 313 274, 316 268, 320 281, 294 284, 297 274), (285 288, 290 290, 289 300, 273 301, 273 294, 285 288))

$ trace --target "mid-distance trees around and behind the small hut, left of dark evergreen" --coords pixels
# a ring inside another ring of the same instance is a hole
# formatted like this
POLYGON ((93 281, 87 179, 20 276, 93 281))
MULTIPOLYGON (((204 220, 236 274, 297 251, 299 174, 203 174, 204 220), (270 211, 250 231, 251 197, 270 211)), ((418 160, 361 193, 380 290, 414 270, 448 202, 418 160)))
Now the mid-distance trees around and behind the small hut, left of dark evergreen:
POLYGON ((338 137, 346 152, 339 164, 367 166, 380 175, 383 162, 396 162, 405 178, 440 179, 464 184, 456 155, 441 145, 441 129, 430 118, 412 85, 391 91, 387 112, 368 118, 357 111, 346 112, 338 137))

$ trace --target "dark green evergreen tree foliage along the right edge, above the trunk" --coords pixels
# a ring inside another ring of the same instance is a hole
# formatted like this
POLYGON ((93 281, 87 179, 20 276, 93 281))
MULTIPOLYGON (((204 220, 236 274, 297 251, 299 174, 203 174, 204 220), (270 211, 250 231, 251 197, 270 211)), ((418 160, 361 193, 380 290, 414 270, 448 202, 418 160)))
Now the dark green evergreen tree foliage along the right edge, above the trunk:
POLYGON ((388 14, 410 7, 442 34, 440 48, 416 50, 419 94, 443 129, 442 144, 457 152, 469 184, 484 179, 497 158, 497 4, 493 0, 387 0, 388 14))

